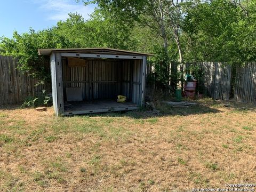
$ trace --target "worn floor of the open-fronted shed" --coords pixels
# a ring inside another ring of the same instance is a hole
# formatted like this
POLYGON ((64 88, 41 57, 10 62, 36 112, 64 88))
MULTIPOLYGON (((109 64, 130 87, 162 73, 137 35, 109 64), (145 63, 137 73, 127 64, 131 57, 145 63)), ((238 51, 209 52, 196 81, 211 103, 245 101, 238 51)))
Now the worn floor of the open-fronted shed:
POLYGON ((118 103, 115 100, 93 100, 66 102, 65 115, 102 113, 109 111, 135 110, 138 105, 133 102, 118 103))

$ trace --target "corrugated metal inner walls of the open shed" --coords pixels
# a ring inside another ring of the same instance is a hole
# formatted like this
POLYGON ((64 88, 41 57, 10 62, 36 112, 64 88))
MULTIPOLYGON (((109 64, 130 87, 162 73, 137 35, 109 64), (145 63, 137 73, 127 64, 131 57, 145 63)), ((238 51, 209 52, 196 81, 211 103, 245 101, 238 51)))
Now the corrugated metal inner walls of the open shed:
POLYGON ((117 99, 122 94, 140 105, 142 60, 90 59, 83 67, 69 67, 62 58, 62 66, 64 99, 66 87, 81 87, 84 100, 117 99))

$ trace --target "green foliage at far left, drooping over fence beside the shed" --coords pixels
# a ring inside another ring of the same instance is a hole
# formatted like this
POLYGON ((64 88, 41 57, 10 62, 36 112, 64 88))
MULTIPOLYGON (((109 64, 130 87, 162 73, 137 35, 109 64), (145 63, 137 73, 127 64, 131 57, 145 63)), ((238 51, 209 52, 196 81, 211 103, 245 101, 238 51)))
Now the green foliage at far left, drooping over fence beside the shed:
POLYGON ((43 57, 39 57, 37 49, 68 47, 68 45, 67 39, 54 34, 52 29, 36 32, 30 28, 28 33, 21 35, 14 31, 13 38, 2 37, 0 54, 18 58, 23 71, 29 71, 39 79, 39 83, 44 83, 50 81, 49 66, 44 65, 43 57))

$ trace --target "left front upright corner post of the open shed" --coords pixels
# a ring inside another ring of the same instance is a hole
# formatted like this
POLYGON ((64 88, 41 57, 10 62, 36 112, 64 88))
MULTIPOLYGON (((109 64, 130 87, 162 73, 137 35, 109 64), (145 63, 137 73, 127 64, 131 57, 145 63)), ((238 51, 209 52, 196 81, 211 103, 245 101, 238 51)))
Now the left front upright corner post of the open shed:
POLYGON ((64 115, 62 62, 61 62, 60 53, 55 53, 55 65, 56 65, 56 80, 57 80, 58 115, 64 115))

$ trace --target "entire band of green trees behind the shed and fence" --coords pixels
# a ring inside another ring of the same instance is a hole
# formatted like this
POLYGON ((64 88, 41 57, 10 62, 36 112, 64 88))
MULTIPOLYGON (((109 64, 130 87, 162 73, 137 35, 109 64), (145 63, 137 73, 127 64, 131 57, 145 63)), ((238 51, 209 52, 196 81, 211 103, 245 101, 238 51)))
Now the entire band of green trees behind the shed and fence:
POLYGON ((84 2, 98 4, 89 20, 70 13, 50 29, 14 31, 13 38, 0 38, 0 54, 19 58, 21 68, 42 82, 50 79, 49 66, 38 65, 42 57, 37 49, 42 48, 111 47, 155 53, 159 74, 154 78, 162 84, 170 79, 170 60, 256 60, 256 0, 84 2))

